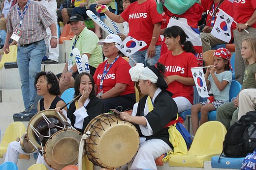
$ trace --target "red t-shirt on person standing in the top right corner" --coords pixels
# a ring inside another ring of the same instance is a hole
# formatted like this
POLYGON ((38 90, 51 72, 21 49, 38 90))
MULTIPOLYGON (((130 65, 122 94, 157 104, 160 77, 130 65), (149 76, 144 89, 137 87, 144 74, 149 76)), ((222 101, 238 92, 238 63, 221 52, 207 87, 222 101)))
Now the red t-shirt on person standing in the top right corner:
MULTIPOLYGON (((233 18, 237 23, 246 23, 256 9, 256 0, 234 0, 233 18)), ((250 25, 256 28, 256 23, 250 25)), ((235 28, 234 28, 235 29, 235 28)))

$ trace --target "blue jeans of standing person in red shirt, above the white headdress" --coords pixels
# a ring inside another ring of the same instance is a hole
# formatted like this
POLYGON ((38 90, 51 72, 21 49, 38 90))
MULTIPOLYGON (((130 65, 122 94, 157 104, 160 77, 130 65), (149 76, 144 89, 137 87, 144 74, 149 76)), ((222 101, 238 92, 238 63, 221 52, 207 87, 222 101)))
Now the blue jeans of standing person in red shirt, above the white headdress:
MULTIPOLYGON (((148 49, 145 49, 143 51, 137 51, 134 54, 132 54, 130 57, 135 60, 137 63, 143 63, 145 67, 147 66, 155 66, 160 58, 160 52, 161 52, 161 45, 156 46, 156 54, 154 57, 149 58, 147 55, 148 49)), ((135 62, 129 59, 129 64, 131 67, 134 66, 135 62)))

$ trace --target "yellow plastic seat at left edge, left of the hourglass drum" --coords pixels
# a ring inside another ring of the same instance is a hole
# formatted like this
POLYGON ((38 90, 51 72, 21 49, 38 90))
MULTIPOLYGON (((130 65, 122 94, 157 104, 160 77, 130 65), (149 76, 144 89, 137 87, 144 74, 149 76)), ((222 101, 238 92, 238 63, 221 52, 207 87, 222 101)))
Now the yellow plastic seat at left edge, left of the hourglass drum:
POLYGON ((20 121, 15 121, 8 125, 0 143, 0 158, 2 158, 3 153, 6 153, 9 143, 16 141, 16 139, 21 137, 25 132, 26 127, 20 121))

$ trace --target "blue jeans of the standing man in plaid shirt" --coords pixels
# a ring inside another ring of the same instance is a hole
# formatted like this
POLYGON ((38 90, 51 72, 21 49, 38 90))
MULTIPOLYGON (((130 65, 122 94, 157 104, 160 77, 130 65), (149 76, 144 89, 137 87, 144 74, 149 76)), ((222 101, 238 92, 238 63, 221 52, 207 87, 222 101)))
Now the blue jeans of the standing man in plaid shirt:
POLYGON ((41 71, 41 62, 46 53, 44 40, 35 42, 28 47, 18 46, 17 64, 20 73, 21 91, 25 110, 29 110, 34 103, 36 90, 34 77, 41 71))

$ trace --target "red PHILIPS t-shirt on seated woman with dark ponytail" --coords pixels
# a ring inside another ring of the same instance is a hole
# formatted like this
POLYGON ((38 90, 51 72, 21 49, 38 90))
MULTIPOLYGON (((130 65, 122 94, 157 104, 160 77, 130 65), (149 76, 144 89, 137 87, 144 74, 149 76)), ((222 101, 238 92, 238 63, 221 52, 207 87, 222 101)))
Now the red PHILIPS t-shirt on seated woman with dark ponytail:
MULTIPOLYGON (((158 60, 161 64, 165 65, 165 75, 179 75, 182 77, 193 77, 191 68, 197 67, 197 60, 194 54, 184 51, 180 55, 172 55, 172 52, 168 52, 160 56, 158 60)), ((173 81, 167 88, 173 94, 174 97, 186 97, 191 104, 193 104, 194 91, 193 86, 184 85, 178 81, 173 81)))

